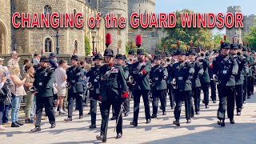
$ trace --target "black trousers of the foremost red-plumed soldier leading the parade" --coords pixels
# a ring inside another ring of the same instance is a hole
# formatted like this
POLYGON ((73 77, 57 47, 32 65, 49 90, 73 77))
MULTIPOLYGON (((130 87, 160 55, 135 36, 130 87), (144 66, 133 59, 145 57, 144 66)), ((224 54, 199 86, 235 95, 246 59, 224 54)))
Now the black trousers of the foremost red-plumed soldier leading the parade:
POLYGON ((107 127, 109 122, 109 115, 110 115, 110 106, 114 108, 115 113, 117 114, 116 122, 118 122, 118 125, 116 127, 117 134, 122 133, 122 114, 119 115, 121 110, 121 100, 117 98, 110 98, 106 102, 102 102, 102 126, 101 126, 101 135, 103 135, 103 138, 106 138, 107 133, 107 127))

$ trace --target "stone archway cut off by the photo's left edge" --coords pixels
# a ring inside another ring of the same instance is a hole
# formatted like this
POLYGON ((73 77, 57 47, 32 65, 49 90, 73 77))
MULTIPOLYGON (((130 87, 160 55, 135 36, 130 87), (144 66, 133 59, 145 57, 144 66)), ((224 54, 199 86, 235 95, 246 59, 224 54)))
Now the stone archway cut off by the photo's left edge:
POLYGON ((6 54, 6 49, 6 28, 0 21, 0 54, 6 54))

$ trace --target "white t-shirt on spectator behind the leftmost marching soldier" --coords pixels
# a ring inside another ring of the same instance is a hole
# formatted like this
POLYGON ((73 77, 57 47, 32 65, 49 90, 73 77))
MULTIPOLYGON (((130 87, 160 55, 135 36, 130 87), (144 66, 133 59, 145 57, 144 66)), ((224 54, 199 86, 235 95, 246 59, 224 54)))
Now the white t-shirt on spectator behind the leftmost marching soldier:
POLYGON ((55 82, 57 83, 58 88, 64 88, 66 86, 64 77, 66 77, 66 70, 64 70, 62 67, 58 67, 55 70, 55 82))

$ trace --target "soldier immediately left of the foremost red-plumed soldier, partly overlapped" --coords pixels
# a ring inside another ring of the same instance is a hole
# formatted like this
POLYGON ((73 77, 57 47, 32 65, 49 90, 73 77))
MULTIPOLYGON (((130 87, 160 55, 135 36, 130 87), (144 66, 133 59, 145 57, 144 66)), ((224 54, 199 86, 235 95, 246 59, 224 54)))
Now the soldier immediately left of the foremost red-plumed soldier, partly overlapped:
MULTIPOLYGON (((89 126, 90 129, 96 128, 96 114, 97 114, 97 100, 99 100, 99 68, 102 66, 102 54, 95 54, 94 55, 94 63, 95 65, 91 67, 91 69, 86 73, 86 77, 90 77, 89 81, 90 84, 88 89, 90 89, 90 120, 91 125, 89 126)), ((100 109, 101 104, 99 103, 100 109)))

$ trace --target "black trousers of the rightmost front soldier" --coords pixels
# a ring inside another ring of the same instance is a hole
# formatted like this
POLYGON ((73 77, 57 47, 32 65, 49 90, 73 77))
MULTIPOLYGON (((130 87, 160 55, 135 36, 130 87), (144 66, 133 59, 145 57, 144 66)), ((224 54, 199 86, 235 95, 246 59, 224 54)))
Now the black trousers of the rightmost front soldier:
POLYGON ((219 86, 218 91, 219 105, 217 116, 220 120, 225 120, 227 111, 228 118, 234 118, 234 97, 235 86, 219 86), (227 110, 226 110, 227 109, 227 110))

